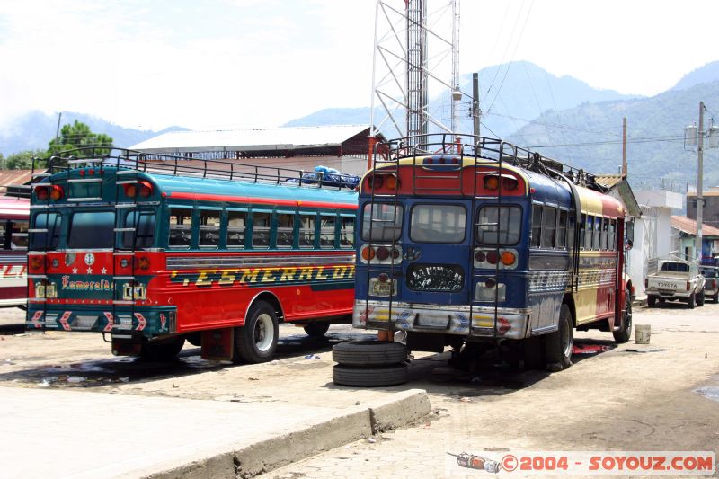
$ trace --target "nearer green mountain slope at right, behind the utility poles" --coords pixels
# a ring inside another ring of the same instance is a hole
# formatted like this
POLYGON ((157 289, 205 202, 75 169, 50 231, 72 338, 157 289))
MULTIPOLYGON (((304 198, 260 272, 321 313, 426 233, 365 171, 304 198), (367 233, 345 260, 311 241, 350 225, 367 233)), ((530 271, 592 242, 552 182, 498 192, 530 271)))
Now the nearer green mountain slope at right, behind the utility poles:
MULTIPOLYGON (((617 173, 622 163, 622 118, 627 121, 627 163, 637 188, 679 190, 697 182, 697 155, 684 148, 684 128, 698 120, 699 102, 719 121, 719 81, 671 90, 652 98, 582 103, 547 111, 508 139, 593 173, 617 173), (569 146, 564 146, 569 145, 569 146)), ((719 185, 719 149, 705 152, 704 184, 719 185)))

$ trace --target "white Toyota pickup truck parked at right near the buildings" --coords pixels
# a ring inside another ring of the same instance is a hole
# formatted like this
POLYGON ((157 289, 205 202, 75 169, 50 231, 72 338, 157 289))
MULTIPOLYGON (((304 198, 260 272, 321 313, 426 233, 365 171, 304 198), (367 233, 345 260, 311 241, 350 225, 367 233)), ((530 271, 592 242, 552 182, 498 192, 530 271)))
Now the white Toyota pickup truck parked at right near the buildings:
POLYGON ((657 301, 684 301, 689 309, 704 306, 704 281, 697 262, 659 260, 657 271, 644 279, 647 305, 654 307, 657 301))

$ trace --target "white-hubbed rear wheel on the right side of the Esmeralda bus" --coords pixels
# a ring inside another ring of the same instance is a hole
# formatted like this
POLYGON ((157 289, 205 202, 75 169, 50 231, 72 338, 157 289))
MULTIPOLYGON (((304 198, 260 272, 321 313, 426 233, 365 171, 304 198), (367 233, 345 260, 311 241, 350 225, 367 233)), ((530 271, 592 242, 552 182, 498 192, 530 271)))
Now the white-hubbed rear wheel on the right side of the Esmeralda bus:
POLYGON ((274 308, 264 301, 255 302, 244 326, 235 328, 235 358, 250 363, 269 361, 277 349, 279 333, 274 308))

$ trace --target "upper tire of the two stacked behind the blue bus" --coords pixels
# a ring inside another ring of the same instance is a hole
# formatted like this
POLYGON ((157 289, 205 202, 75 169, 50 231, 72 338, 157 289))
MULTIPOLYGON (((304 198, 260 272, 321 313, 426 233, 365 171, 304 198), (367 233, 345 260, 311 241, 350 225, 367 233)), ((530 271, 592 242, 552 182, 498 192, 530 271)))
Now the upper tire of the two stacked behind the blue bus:
POLYGON ((342 366, 389 366, 407 359, 407 347, 394 341, 348 341, 335 344, 332 359, 342 366))

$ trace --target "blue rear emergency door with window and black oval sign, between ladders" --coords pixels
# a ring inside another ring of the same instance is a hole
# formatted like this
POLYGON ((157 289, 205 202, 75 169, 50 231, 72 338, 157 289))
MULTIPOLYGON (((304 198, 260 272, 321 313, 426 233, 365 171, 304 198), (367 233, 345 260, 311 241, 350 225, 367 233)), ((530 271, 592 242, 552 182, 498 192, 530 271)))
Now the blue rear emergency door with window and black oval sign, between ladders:
POLYGON ((453 306, 467 306, 471 301, 470 202, 416 199, 407 201, 406 208, 402 300, 438 308, 436 315, 415 317, 415 326, 469 333, 469 315, 453 306), (443 306, 452 313, 442 312, 443 306))

